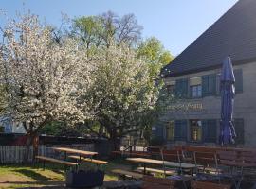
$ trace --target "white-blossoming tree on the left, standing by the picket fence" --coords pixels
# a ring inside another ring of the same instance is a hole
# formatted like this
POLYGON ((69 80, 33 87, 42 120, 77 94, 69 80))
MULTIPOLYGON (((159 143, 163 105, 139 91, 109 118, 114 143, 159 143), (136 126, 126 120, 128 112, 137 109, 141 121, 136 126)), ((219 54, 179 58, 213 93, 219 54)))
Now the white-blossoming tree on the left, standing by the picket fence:
POLYGON ((23 15, 2 31, 1 84, 8 94, 5 112, 23 123, 28 150, 46 123, 87 116, 85 103, 78 103, 78 97, 90 86, 90 64, 76 42, 53 43, 47 26, 34 15, 23 15))

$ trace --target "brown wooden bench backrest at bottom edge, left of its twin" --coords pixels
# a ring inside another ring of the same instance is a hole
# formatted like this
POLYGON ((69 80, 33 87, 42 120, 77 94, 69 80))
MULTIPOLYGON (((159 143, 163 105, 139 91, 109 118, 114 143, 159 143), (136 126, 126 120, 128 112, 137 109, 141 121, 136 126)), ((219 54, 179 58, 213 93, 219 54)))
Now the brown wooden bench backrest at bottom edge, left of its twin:
POLYGON ((144 176, 142 182, 143 189, 174 189, 177 188, 176 181, 164 178, 155 178, 151 176, 144 176))

